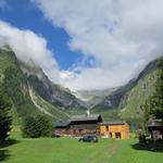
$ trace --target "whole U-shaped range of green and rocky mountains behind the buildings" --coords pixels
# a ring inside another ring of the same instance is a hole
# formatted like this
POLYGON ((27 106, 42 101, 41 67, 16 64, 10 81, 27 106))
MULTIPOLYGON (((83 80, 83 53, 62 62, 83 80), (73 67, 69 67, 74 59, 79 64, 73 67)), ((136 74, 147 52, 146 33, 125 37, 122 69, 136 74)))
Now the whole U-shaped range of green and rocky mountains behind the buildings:
POLYGON ((0 87, 4 88, 13 103, 11 114, 14 124, 32 114, 46 114, 59 121, 74 114, 85 114, 87 110, 102 114, 109 121, 141 122, 142 105, 154 91, 158 60, 149 63, 137 78, 125 86, 71 91, 52 83, 33 61, 29 64, 20 61, 5 46, 0 49, 0 87))

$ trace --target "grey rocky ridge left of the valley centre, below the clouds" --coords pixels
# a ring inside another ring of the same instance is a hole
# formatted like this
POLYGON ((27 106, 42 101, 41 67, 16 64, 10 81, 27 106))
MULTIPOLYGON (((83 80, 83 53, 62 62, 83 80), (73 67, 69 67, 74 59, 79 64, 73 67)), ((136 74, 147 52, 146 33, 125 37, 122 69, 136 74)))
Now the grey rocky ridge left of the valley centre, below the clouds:
POLYGON ((20 62, 22 71, 28 76, 28 84, 45 100, 64 109, 86 109, 84 103, 72 95, 71 90, 52 84, 42 70, 30 63, 20 62))

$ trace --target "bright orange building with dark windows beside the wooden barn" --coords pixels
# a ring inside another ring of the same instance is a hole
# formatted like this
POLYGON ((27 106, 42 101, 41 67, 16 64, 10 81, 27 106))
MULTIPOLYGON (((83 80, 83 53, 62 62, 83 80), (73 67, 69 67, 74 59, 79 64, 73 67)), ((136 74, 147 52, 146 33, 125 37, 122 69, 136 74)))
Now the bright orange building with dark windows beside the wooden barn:
POLYGON ((129 139, 129 125, 126 122, 100 123, 100 135, 113 139, 129 139))

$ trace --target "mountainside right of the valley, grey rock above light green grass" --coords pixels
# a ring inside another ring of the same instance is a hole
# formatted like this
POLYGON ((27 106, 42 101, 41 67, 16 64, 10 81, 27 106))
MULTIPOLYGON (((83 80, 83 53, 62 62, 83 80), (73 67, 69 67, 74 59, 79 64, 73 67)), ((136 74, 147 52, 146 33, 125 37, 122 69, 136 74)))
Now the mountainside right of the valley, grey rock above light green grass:
POLYGON ((130 122, 133 127, 140 127, 143 121, 142 105, 155 88, 158 61, 150 62, 137 78, 106 96, 91 112, 100 113, 105 121, 124 120, 130 122))

